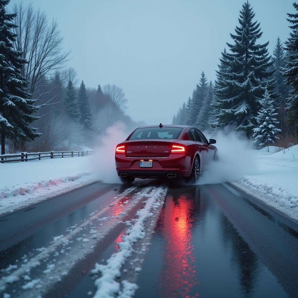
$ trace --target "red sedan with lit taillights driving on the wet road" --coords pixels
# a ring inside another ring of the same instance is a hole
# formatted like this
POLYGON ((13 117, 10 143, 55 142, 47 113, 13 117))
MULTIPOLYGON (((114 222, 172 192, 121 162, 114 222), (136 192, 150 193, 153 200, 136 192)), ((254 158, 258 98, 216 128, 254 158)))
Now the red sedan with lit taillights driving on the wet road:
POLYGON ((138 178, 185 178, 198 181, 200 172, 217 160, 214 139, 184 125, 143 126, 117 145, 115 163, 122 182, 138 178))

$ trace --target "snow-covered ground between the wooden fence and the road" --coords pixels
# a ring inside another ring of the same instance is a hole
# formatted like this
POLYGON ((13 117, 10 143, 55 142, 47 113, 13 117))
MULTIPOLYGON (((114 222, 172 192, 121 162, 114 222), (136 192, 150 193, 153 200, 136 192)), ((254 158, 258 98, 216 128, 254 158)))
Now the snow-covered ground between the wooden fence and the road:
POLYGON ((95 181, 94 156, 0 164, 0 215, 95 181))

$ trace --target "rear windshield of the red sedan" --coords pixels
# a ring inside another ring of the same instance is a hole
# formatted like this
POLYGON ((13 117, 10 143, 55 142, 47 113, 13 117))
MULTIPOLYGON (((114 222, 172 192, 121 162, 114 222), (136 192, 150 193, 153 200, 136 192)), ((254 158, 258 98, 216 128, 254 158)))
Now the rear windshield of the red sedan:
POLYGON ((182 128, 179 127, 146 127, 138 128, 130 136, 130 140, 139 139, 178 139, 182 128))

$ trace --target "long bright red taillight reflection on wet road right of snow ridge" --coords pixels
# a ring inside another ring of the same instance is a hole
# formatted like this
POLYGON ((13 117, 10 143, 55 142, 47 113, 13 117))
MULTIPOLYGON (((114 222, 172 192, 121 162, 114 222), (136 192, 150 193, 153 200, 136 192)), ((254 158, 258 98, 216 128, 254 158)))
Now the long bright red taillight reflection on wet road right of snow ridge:
POLYGON ((198 297, 198 293, 190 295, 193 286, 199 283, 195 276, 195 256, 191 243, 190 208, 185 196, 178 200, 167 198, 164 208, 166 264, 161 274, 162 284, 167 285, 163 289, 165 297, 172 297, 173 293, 179 294, 177 297, 198 297))

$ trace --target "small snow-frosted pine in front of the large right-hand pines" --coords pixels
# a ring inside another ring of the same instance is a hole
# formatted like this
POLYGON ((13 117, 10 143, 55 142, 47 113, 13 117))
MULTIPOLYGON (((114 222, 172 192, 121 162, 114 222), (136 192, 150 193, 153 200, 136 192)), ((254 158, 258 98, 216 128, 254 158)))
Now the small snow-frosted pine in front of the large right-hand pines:
POLYGON ((279 122, 275 116, 278 113, 275 112, 274 100, 271 100, 267 88, 265 88, 264 97, 260 100, 260 104, 261 109, 256 117, 257 127, 253 128, 253 138, 254 143, 262 148, 264 146, 274 145, 274 142, 279 139, 277 134, 281 130, 276 127, 279 122))

